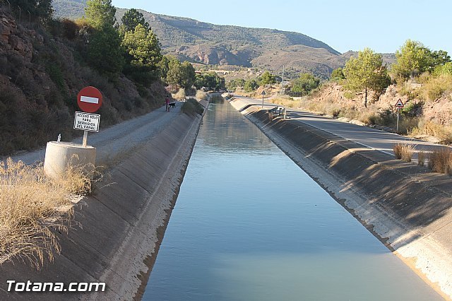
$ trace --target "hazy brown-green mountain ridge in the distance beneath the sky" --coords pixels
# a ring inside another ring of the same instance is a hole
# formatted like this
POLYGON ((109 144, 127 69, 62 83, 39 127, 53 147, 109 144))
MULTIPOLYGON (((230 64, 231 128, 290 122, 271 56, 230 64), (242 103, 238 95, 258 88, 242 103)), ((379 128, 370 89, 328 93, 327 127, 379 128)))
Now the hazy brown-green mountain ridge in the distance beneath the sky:
MULTIPOLYGON (((54 0, 56 16, 83 16, 85 0, 54 0)), ((117 8, 117 20, 127 10, 117 8)), ((326 43, 302 33, 268 28, 215 25, 191 18, 165 16, 139 10, 157 35, 165 54, 180 60, 206 65, 243 66, 280 73, 285 66, 287 78, 300 72, 327 78, 344 66, 343 55, 326 43)))

